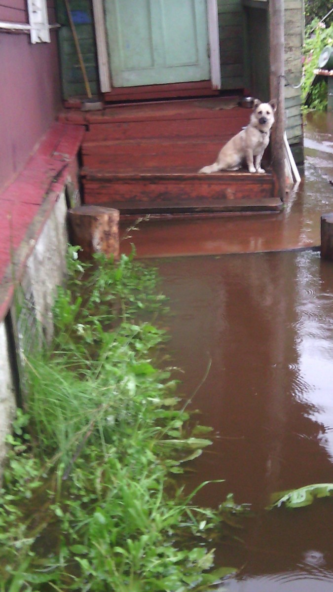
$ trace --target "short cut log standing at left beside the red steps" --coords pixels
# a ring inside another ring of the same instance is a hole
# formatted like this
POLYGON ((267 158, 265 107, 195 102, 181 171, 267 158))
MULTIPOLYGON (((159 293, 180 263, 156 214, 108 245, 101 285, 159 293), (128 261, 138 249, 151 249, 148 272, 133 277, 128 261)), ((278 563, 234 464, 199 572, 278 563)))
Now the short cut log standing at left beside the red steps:
POLYGON ((72 244, 79 244, 81 259, 94 253, 119 256, 119 210, 98 205, 80 205, 68 211, 72 244))

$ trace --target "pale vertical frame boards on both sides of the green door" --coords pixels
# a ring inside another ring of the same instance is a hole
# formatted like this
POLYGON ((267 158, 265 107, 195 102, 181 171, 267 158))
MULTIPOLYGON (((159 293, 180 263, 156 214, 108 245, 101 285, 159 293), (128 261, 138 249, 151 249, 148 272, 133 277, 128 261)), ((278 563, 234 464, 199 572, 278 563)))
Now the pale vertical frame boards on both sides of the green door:
MULTIPOLYGON (((221 88, 219 14, 217 0, 206 0, 209 38, 210 81, 212 90, 221 88)), ((101 92, 112 92, 108 59, 107 31, 105 26, 104 0, 92 0, 97 47, 98 73, 101 92)), ((157 85, 156 85, 157 86, 157 85)), ((138 87, 139 88, 139 87, 138 87)))

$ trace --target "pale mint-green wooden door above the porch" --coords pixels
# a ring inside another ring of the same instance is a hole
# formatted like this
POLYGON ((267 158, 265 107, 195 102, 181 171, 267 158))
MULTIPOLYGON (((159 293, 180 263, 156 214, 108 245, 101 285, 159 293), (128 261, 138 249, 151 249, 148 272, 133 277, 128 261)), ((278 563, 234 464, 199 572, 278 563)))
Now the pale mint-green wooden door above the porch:
POLYGON ((113 86, 210 79, 206 0, 105 0, 113 86))

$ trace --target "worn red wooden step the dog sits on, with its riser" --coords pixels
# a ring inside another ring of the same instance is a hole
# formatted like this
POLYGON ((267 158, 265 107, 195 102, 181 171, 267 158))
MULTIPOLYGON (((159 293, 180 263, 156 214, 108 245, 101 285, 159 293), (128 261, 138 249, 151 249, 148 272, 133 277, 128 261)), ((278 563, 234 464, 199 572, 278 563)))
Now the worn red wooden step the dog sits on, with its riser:
POLYGON ((274 195, 274 181, 266 175, 247 172, 198 173, 114 173, 82 169, 86 204, 107 205, 121 211, 127 204, 138 210, 152 208, 169 211, 180 207, 190 211, 198 207, 219 208, 227 202, 246 200, 255 204, 274 195), (190 209, 189 209, 190 208, 190 209))

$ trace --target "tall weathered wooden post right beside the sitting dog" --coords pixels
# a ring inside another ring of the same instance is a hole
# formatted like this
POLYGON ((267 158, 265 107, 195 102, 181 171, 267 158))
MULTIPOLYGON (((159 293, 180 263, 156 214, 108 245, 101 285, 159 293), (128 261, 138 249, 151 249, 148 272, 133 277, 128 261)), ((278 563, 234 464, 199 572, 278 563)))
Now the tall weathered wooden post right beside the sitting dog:
POLYGON ((284 2, 270 0, 270 96, 277 100, 276 123, 274 124, 271 150, 273 170, 276 173, 278 197, 286 197, 286 170, 284 167, 284 2))

